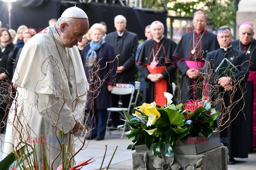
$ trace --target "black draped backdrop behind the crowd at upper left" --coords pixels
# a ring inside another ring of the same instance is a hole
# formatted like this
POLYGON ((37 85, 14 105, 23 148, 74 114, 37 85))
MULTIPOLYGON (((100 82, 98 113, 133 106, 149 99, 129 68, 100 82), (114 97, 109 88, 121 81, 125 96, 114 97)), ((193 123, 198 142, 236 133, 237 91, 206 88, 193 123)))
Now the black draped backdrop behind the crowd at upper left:
MULTIPOLYGON (((12 3, 11 28, 17 30, 22 24, 33 27, 36 30, 48 26, 52 18, 58 19, 66 8, 74 6, 74 3, 63 3, 56 0, 24 0, 12 3)), ((166 12, 154 12, 153 10, 139 10, 138 8, 123 7, 116 4, 103 3, 76 3, 88 15, 90 25, 106 22, 108 32, 115 31, 114 18, 116 15, 124 15, 127 20, 126 29, 137 33, 139 39, 145 39, 145 27, 158 20, 163 22, 166 35, 166 12)), ((0 2, 0 20, 2 27, 9 28, 8 4, 0 2)))

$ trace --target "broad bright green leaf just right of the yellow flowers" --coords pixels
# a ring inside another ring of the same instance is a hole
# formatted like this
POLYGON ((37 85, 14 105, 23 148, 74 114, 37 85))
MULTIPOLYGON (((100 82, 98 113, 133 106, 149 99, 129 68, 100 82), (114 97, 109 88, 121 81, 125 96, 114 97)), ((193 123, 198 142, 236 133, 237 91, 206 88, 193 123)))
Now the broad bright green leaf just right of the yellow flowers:
POLYGON ((171 125, 175 125, 175 126, 183 126, 184 122, 184 116, 179 113, 178 111, 175 111, 173 109, 165 109, 165 112, 167 112, 168 117, 169 117, 169 122, 171 125))

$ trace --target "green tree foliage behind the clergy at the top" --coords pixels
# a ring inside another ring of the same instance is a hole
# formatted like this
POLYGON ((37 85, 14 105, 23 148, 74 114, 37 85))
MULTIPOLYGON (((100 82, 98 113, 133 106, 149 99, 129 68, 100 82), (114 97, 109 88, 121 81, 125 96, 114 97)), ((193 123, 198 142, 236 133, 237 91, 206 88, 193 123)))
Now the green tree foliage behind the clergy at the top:
POLYGON ((231 26, 236 18, 235 0, 144 0, 143 7, 164 10, 166 6, 171 16, 190 16, 202 10, 213 21, 213 27, 231 26))

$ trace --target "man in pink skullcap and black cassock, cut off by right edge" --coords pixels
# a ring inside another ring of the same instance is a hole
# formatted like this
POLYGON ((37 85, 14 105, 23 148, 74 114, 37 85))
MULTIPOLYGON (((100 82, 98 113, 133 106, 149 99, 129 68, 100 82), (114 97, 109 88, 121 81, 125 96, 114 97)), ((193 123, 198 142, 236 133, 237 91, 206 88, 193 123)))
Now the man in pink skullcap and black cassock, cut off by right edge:
MULTIPOLYGON (((238 30, 239 39, 234 40, 232 46, 245 52, 246 59, 249 61, 249 77, 246 81, 245 93, 245 114, 246 119, 251 120, 249 124, 250 150, 256 148, 256 40, 253 38, 253 25, 250 22, 241 24, 238 30)), ((248 132, 248 131, 247 131, 248 132)))

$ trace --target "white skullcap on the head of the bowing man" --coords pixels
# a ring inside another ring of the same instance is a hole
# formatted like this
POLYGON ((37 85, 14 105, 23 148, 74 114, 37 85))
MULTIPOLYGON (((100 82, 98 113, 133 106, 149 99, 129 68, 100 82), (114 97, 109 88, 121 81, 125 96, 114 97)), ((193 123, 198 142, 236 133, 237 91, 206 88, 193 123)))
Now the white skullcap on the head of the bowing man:
POLYGON ((81 8, 76 6, 67 8, 67 10, 65 10, 62 13, 61 17, 88 19, 88 16, 86 15, 86 13, 81 8))

